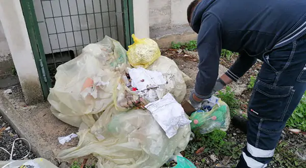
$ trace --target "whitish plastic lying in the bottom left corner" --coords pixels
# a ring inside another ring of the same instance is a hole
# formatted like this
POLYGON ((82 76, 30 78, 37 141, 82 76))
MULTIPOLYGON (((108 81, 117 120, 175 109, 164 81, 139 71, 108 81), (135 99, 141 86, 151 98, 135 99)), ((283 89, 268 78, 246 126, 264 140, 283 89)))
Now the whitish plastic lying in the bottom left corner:
POLYGON ((0 167, 2 168, 58 168, 50 161, 44 158, 36 158, 33 160, 16 160, 16 161, 0 161, 0 167), (7 165, 8 164, 8 165, 7 165))

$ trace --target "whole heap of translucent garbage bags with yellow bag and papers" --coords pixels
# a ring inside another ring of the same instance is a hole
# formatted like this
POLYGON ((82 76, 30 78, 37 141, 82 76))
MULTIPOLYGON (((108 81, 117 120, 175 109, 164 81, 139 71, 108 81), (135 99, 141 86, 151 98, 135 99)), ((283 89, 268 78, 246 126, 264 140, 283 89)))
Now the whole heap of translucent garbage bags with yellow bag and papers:
POLYGON ((180 103, 189 77, 154 41, 133 38, 127 54, 106 36, 58 67, 52 113, 79 127, 78 146, 59 159, 93 154, 99 168, 149 168, 185 150, 191 121, 180 103))

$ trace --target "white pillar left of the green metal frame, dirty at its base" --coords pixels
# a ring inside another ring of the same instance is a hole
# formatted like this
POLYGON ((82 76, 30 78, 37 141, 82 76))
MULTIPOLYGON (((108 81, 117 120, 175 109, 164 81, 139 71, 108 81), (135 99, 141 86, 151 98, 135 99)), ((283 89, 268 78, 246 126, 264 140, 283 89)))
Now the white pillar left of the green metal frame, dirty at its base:
POLYGON ((44 100, 19 0, 0 0, 0 20, 8 41, 25 103, 44 100))

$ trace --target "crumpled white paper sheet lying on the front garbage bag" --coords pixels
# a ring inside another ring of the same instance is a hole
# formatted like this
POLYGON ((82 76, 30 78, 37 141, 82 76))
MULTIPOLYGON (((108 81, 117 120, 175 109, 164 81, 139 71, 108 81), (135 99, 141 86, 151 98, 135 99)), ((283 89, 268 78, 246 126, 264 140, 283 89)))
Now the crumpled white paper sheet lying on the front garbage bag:
POLYGON ((170 93, 167 93, 162 99, 146 105, 145 108, 151 112, 168 138, 175 136, 177 129, 181 126, 191 123, 186 118, 183 107, 176 102, 170 93))

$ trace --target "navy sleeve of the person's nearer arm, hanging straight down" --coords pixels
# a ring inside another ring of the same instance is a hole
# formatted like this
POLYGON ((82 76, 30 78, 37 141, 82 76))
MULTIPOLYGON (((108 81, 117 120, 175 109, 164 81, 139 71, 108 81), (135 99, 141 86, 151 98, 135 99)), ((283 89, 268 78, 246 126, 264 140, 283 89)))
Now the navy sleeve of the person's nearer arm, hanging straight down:
POLYGON ((212 96, 218 78, 221 48, 221 23, 215 15, 204 14, 197 39, 199 72, 195 82, 195 94, 199 98, 207 99, 212 96))

